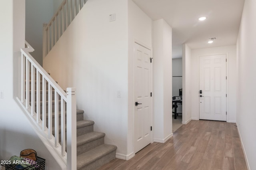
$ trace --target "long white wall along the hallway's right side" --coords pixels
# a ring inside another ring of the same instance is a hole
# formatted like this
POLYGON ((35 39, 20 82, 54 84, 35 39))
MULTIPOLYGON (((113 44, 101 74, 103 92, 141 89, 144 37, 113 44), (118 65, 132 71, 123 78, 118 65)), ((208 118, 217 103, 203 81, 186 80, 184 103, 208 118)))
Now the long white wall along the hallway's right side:
POLYGON ((256 169, 256 1, 245 0, 237 40, 236 122, 251 170, 256 169))

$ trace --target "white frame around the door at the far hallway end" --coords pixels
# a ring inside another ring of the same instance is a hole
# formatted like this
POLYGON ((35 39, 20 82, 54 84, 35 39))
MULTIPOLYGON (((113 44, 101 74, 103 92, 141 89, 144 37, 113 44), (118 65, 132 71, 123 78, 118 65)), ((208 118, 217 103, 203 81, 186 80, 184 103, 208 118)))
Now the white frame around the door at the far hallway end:
POLYGON ((200 90, 200 87, 199 87, 199 70, 200 70, 200 66, 199 66, 199 57, 204 57, 204 56, 209 56, 209 55, 226 55, 226 76, 227 76, 227 79, 226 79, 226 94, 227 94, 227 97, 226 97, 226 112, 227 112, 227 114, 226 114, 226 122, 228 122, 228 120, 229 120, 229 117, 228 117, 228 115, 229 115, 229 111, 228 111, 228 99, 229 99, 229 94, 228 94, 228 90, 229 90, 229 83, 228 83, 228 80, 229 80, 229 72, 228 72, 228 70, 229 70, 229 55, 228 55, 228 52, 227 53, 209 53, 209 54, 207 54, 207 55, 198 55, 197 56, 197 91, 198 91, 198 105, 197 105, 197 107, 198 107, 198 120, 199 120, 199 118, 200 118, 200 101, 199 101, 199 90, 200 90))

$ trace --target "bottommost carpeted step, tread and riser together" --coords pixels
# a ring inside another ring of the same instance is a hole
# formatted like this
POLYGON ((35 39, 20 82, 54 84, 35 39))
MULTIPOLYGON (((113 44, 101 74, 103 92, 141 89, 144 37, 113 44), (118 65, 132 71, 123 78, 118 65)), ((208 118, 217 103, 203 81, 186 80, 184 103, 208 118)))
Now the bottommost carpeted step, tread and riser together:
POLYGON ((97 169, 116 157, 116 146, 102 144, 77 156, 77 169, 97 169))

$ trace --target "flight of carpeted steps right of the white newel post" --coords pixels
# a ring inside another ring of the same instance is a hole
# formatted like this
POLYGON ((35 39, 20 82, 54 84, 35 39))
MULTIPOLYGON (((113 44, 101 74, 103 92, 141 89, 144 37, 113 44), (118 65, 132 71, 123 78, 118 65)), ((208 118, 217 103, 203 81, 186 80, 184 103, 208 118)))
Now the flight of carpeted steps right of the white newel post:
POLYGON ((117 147, 104 144, 105 133, 94 132, 94 122, 81 119, 83 113, 77 111, 77 169, 96 170, 116 157, 117 147))

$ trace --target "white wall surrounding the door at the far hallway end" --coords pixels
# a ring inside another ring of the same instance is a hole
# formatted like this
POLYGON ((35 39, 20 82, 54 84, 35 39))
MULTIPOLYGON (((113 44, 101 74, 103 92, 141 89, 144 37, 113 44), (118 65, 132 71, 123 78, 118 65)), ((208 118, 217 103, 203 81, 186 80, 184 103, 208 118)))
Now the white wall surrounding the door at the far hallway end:
POLYGON ((227 56, 227 122, 236 122, 236 45, 192 49, 191 55, 191 109, 192 119, 199 119, 199 63, 198 57, 201 55, 226 54, 227 56))

